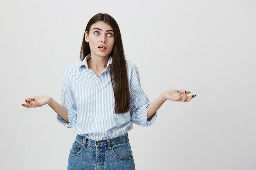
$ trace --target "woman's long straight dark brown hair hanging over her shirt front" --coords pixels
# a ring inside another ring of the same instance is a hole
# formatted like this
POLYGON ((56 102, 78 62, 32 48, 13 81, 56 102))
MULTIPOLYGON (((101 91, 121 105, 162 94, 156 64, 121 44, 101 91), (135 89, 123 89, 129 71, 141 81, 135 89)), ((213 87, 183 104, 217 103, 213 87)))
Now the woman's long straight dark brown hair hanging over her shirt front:
MULTIPOLYGON (((111 83, 115 96, 115 113, 122 114, 128 112, 130 108, 130 91, 128 84, 128 75, 126 68, 126 58, 124 55, 124 47, 121 39, 119 26, 114 18, 107 13, 97 13, 88 22, 85 31, 90 31, 92 24, 97 21, 103 21, 114 29, 114 46, 110 53, 112 55, 112 63, 110 64, 111 83)), ((91 53, 89 43, 85 41, 85 32, 83 33, 83 42, 80 51, 81 61, 86 55, 91 53)))

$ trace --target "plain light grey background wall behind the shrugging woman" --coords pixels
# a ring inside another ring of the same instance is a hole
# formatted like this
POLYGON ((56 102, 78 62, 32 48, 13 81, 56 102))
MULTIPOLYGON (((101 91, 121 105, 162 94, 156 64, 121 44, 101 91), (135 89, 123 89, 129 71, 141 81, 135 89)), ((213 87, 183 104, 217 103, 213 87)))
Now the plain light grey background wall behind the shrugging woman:
POLYGON ((96 13, 119 24, 126 59, 153 102, 168 89, 155 124, 128 132, 137 170, 256 169, 256 1, 0 1, 0 169, 64 170, 76 134, 48 105, 61 102, 64 68, 79 61, 96 13))

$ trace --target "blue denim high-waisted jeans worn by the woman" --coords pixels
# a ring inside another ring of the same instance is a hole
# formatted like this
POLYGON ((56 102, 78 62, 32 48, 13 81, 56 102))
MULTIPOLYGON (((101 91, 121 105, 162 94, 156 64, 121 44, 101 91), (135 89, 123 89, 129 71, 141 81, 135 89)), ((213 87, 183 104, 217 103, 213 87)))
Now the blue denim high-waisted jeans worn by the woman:
POLYGON ((128 133, 100 141, 76 135, 67 170, 135 170, 128 133))

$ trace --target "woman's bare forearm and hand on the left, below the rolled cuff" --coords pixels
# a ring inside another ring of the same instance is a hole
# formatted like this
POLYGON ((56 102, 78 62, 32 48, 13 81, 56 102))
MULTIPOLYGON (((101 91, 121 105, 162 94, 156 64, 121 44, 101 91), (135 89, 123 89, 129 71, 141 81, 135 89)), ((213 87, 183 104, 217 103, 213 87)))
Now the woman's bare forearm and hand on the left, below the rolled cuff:
POLYGON ((58 102, 56 102, 52 97, 39 95, 25 99, 25 102, 26 104, 23 103, 22 106, 26 108, 36 108, 48 104, 60 117, 67 121, 67 123, 70 123, 68 119, 67 109, 58 102))

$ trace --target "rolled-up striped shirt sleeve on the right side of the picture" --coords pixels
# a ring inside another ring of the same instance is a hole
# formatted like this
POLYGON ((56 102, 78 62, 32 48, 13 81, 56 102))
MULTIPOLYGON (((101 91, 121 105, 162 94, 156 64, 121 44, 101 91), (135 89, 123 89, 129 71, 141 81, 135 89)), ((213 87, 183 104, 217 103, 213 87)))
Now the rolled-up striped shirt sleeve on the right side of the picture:
POLYGON ((155 122, 157 112, 148 119, 147 107, 150 103, 146 93, 140 86, 139 71, 135 66, 130 79, 130 115, 133 123, 148 127, 155 122))

